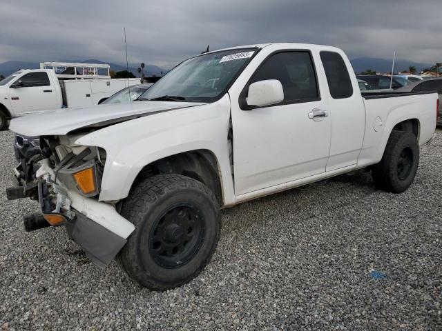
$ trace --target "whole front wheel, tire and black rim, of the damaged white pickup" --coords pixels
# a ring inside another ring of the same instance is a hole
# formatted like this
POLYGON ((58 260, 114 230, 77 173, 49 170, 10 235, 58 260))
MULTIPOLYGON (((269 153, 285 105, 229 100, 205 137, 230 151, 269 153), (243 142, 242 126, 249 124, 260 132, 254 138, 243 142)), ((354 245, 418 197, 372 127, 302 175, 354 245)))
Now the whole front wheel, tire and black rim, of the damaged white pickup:
POLYGON ((152 290, 175 288, 209 263, 220 238, 220 211, 206 185, 160 174, 139 183, 121 214, 135 231, 119 255, 127 274, 152 290))

